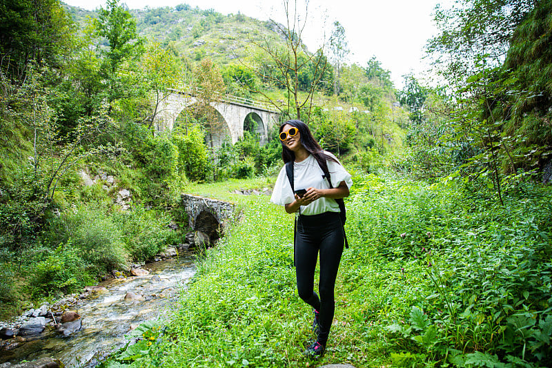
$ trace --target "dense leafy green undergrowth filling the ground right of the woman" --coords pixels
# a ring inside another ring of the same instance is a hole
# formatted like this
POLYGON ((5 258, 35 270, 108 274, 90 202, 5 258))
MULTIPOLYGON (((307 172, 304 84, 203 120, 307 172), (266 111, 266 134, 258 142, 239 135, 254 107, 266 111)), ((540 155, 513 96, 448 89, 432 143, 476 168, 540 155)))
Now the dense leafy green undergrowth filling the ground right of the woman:
POLYGON ((388 282, 393 298, 376 305, 386 309, 395 364, 448 355, 460 366, 543 365, 552 331, 549 190, 511 191, 499 206, 453 182, 369 175, 355 183, 352 253, 370 254, 377 266, 344 269, 361 285, 355 298, 373 295, 374 276, 363 273, 377 270, 388 282))

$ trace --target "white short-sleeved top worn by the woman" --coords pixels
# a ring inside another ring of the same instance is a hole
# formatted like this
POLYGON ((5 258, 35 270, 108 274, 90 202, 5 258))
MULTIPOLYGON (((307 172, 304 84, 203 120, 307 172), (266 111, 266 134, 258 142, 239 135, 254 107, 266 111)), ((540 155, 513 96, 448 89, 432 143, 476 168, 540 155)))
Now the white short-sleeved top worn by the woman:
MULTIPOLYGON (((335 156, 329 152, 324 151, 324 153, 335 158, 335 156)), ((328 164, 328 171, 330 172, 332 186, 334 188, 337 188, 341 182, 345 182, 348 188, 351 188, 353 185, 351 174, 347 173, 341 164, 331 160, 326 160, 326 164, 328 164)), ((329 189, 330 185, 328 184, 328 180, 323 178, 322 175, 324 175, 324 171, 322 171, 322 168, 320 168, 313 155, 308 155, 302 162, 293 163, 293 186, 296 191, 311 186, 317 189, 329 189)), ((288 175, 286 174, 286 166, 284 165, 278 174, 276 184, 274 184, 270 202, 284 206, 294 200, 295 196, 293 195, 293 191, 291 191, 291 184, 289 183, 288 175)), ((339 205, 331 198, 322 197, 307 206, 301 206, 300 211, 302 215, 339 212, 339 205)))

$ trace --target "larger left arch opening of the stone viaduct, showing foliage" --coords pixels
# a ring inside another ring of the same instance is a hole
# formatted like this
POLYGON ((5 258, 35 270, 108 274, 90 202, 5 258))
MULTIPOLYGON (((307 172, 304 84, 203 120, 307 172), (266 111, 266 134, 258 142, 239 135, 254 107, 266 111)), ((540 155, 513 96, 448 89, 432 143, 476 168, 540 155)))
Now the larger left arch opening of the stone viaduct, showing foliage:
MULTIPOLYGON (((199 114, 195 110, 197 110, 198 107, 199 103, 195 102, 182 108, 177 114, 174 128, 182 126, 182 124, 186 124, 184 120, 190 119, 190 116, 186 115, 187 113, 190 113, 192 119, 194 119, 194 117, 197 119, 199 114)), ((219 147, 225 140, 232 140, 231 127, 217 106, 209 106, 208 108, 213 110, 216 121, 208 122, 205 142, 208 146, 219 147)), ((195 124, 195 122, 193 122, 193 124, 195 124)))

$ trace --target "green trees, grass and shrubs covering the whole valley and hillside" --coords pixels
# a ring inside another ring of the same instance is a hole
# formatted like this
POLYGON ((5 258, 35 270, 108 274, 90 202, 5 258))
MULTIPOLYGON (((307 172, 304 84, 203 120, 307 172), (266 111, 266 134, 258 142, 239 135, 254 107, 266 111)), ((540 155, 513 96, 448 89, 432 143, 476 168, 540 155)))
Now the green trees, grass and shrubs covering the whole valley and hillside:
POLYGON ((229 93, 304 120, 355 174, 335 345, 321 363, 546 367, 551 4, 437 8, 428 51, 446 84, 405 75, 401 90, 377 57, 346 64, 338 22, 324 50, 307 50, 300 28, 186 4, 4 4, 0 315, 184 242, 179 197, 197 193, 237 203, 242 222, 198 255, 171 327, 140 327, 148 340, 103 364, 306 366, 293 219, 230 193, 270 186, 281 144, 273 129, 261 146, 248 120, 239 142, 214 146, 210 101, 229 93), (201 88, 197 105, 157 130, 161 99, 184 85, 201 88))

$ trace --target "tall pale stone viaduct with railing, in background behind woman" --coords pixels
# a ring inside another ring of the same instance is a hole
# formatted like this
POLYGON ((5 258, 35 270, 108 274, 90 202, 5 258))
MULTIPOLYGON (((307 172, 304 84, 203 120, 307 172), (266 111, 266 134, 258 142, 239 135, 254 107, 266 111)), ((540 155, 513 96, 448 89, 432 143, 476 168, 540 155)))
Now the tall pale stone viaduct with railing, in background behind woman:
MULTIPOLYGON (((153 121, 155 128, 158 131, 172 130, 175 127, 177 117, 182 111, 198 103, 195 97, 198 92, 201 92, 200 88, 172 89, 168 94, 162 96, 158 106, 159 113, 153 121)), ((259 137, 261 144, 268 142, 269 129, 278 124, 279 113, 262 101, 233 95, 216 95, 210 106, 219 113, 219 119, 225 123, 223 124, 223 131, 219 132, 213 139, 216 146, 219 146, 228 135, 233 144, 243 137, 244 123, 248 116, 257 125, 252 128, 251 133, 259 137)))

